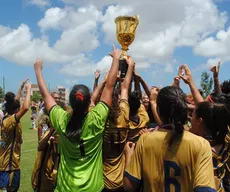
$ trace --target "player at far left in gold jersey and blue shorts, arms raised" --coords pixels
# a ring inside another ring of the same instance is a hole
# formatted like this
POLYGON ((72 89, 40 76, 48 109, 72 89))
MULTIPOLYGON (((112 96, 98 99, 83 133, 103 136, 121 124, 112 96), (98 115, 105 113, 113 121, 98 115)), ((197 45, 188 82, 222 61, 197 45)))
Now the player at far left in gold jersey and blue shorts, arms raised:
POLYGON ((22 128, 20 119, 30 106, 31 84, 26 85, 26 97, 20 108, 21 91, 27 80, 21 85, 17 96, 8 92, 5 96, 6 114, 0 129, 0 189, 16 192, 20 186, 20 156, 22 128))

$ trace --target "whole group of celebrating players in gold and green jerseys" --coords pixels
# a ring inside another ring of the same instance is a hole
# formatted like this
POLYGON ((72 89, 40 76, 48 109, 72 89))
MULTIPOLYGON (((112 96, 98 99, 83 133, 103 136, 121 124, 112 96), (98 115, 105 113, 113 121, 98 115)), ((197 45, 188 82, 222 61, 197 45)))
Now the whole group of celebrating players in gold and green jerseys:
MULTIPOLYGON (((214 66, 214 90, 206 98, 196 88, 191 71, 181 65, 171 86, 149 87, 122 52, 113 47, 111 68, 94 88, 74 85, 70 107, 50 94, 42 61, 34 64, 44 102, 38 118, 38 152, 31 176, 36 192, 229 192, 230 81, 219 82, 214 66), (191 94, 180 88, 184 82, 191 94), (144 89, 142 92, 141 85, 144 89)), ((30 108, 31 84, 5 95, 0 130, 0 189, 20 186, 22 127, 30 108), (20 105, 21 92, 26 96, 20 105)))

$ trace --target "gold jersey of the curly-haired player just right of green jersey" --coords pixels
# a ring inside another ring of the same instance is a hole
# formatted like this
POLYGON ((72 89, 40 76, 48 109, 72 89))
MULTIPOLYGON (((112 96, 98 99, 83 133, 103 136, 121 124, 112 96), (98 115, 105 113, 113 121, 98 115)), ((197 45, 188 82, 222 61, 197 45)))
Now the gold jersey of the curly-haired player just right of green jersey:
POLYGON ((118 189, 123 186, 125 169, 125 155, 123 153, 129 126, 129 104, 126 100, 120 101, 120 114, 116 127, 109 122, 103 137, 103 174, 107 189, 118 189))

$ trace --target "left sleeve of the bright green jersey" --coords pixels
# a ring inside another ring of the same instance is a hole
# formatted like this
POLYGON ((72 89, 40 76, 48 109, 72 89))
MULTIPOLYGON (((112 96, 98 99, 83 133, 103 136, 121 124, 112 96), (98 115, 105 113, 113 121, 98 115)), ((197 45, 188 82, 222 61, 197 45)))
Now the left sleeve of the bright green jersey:
POLYGON ((54 106, 51 111, 50 111, 50 121, 52 124, 52 127, 57 131, 57 132, 65 132, 65 128, 67 125, 68 119, 67 117, 67 112, 62 109, 60 106, 56 105, 54 106), (65 126, 62 126, 65 124, 65 126))

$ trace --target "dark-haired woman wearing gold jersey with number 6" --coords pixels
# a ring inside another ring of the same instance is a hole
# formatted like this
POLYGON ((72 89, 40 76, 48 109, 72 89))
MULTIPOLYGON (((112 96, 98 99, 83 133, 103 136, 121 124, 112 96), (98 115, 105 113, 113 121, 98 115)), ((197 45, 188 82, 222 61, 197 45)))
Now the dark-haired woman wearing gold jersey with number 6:
MULTIPOLYGON (((152 91, 152 94, 154 91, 152 91)), ((184 131, 188 108, 184 93, 165 87, 155 98, 163 126, 142 135, 133 156, 127 153, 124 187, 127 191, 214 192, 210 144, 184 131), (130 159, 130 162, 129 162, 130 159)), ((132 152, 134 147, 128 146, 132 152)))

